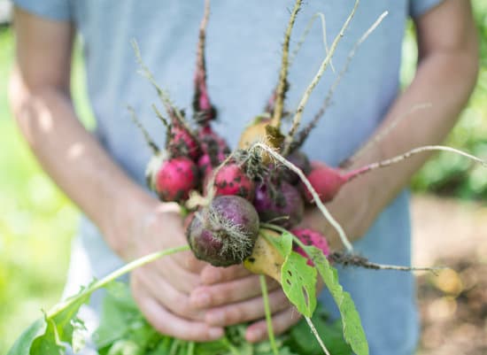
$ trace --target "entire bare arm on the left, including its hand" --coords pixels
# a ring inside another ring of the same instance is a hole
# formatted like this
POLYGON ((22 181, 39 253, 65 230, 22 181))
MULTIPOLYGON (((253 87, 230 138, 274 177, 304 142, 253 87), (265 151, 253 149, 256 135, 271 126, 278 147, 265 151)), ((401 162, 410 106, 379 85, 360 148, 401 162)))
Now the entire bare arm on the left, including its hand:
MULTIPOLYGON (((58 186, 124 259, 186 243, 179 209, 160 204, 131 181, 81 126, 70 95, 73 27, 15 10, 17 52, 10 98, 21 133, 58 186)), ((189 305, 200 264, 189 252, 132 274, 135 300, 159 331, 206 341, 222 328, 189 305)))

